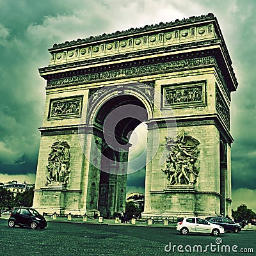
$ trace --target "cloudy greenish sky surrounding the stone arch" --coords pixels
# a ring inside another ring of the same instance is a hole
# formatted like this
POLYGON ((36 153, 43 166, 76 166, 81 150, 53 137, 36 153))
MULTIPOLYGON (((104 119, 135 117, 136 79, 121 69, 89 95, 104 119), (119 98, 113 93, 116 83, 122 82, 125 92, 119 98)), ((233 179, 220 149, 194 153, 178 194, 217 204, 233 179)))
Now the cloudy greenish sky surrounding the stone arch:
MULTIPOLYGON (((0 181, 35 182, 45 81, 53 44, 214 13, 239 82, 232 93, 233 208, 256 211, 255 0, 0 0, 0 181)), ((141 191, 143 170, 129 177, 141 191)), ((133 187, 133 188, 132 188, 133 187)))

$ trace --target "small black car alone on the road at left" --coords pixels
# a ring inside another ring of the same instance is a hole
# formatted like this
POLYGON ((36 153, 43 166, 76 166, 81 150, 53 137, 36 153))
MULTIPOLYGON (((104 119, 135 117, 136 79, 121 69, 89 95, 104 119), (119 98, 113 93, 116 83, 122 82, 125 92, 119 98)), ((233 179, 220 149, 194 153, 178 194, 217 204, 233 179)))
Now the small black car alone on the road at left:
POLYGON ((20 227, 27 226, 31 228, 45 228, 47 223, 45 218, 35 209, 20 207, 15 209, 8 219, 9 227, 19 225, 20 227))

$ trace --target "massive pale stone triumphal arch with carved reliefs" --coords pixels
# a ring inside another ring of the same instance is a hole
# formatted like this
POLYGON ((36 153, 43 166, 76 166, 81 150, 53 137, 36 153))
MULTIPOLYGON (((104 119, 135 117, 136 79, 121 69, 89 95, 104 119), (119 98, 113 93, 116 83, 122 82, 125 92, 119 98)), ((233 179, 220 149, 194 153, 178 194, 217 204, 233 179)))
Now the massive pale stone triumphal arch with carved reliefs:
POLYGON ((33 207, 125 211, 129 136, 147 124, 143 216, 231 214, 232 61, 212 13, 49 49, 33 207))

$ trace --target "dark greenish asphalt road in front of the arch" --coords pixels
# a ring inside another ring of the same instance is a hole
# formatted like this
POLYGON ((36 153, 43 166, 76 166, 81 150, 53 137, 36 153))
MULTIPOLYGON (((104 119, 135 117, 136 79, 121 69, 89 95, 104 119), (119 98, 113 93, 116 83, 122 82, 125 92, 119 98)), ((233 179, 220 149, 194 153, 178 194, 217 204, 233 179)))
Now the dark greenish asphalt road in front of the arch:
POLYGON ((217 239, 202 234, 182 236, 175 228, 131 225, 49 221, 43 230, 10 228, 7 220, 0 219, 0 255, 4 256, 256 255, 256 231, 225 233, 217 239), (230 252, 225 252, 228 248, 230 252))

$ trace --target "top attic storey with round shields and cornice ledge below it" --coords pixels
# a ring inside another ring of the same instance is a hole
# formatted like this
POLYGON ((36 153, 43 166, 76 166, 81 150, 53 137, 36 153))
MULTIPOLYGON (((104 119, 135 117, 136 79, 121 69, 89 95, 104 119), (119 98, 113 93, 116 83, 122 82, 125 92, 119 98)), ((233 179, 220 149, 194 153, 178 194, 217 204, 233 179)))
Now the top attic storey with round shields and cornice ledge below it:
MULTIPOLYGON (((152 53, 159 54, 160 52, 166 54, 166 51, 179 51, 188 47, 199 47, 200 45, 211 45, 211 47, 216 48, 214 44, 218 44, 221 48, 221 56, 225 59, 227 66, 220 67, 225 75, 226 83, 230 84, 230 91, 234 91, 238 83, 232 68, 232 61, 218 21, 212 13, 175 20, 175 22, 166 22, 165 24, 161 22, 143 28, 128 29, 122 32, 116 31, 108 35, 90 36, 90 38, 73 40, 64 44, 54 44, 52 49, 49 49, 52 54, 49 67, 40 68, 39 72, 40 76, 48 80, 52 79, 51 76, 55 70, 68 67, 76 68, 74 74, 77 74, 81 71, 77 68, 81 65, 90 65, 90 63, 100 63, 102 65, 102 61, 125 59, 127 61, 134 56, 141 57, 152 53), (156 43, 152 41, 152 38, 156 39, 156 43), (138 41, 141 45, 137 44, 138 41)), ((218 60, 218 56, 216 56, 216 60, 218 60)), ((68 73, 68 70, 63 70, 63 72, 68 73)), ((63 77, 63 74, 60 74, 60 77, 63 77)))

